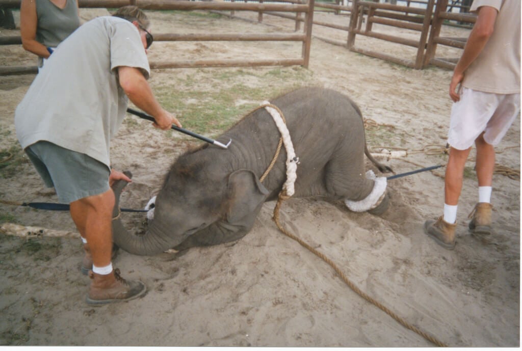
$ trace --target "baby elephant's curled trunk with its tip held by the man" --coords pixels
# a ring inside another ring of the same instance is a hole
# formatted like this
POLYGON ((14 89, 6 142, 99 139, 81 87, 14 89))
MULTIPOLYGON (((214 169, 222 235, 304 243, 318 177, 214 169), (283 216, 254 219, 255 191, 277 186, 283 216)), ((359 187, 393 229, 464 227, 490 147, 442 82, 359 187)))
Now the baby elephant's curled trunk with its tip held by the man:
MULTIPOLYGON (((124 174, 132 178, 131 172, 125 171, 124 174)), ((113 218, 115 219, 112 221, 114 243, 129 253, 141 256, 157 255, 179 245, 179 240, 172 239, 162 234, 162 231, 156 230, 153 221, 144 235, 134 235, 125 229, 121 219, 118 218, 118 214, 120 212, 120 195, 126 185, 127 182, 125 180, 118 180, 112 187, 115 197, 113 211, 113 218)))

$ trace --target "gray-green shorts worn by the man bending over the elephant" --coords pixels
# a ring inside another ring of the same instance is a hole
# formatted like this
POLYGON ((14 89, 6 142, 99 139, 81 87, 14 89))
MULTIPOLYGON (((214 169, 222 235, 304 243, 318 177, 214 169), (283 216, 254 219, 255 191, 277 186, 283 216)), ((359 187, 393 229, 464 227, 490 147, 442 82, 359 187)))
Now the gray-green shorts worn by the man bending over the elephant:
POLYGON ((110 188, 110 168, 84 153, 49 141, 38 141, 25 151, 45 186, 54 187, 62 203, 99 195, 110 188))

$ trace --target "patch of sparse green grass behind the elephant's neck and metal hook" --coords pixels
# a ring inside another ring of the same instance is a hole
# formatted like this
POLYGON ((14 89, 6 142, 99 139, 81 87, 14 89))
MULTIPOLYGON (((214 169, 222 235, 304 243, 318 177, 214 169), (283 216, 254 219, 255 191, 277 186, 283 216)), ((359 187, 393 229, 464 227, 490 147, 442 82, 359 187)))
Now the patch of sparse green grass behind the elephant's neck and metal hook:
POLYGON ((181 118, 184 128, 212 137, 261 101, 306 86, 311 77, 310 71, 300 67, 199 69, 154 91, 161 105, 181 118))

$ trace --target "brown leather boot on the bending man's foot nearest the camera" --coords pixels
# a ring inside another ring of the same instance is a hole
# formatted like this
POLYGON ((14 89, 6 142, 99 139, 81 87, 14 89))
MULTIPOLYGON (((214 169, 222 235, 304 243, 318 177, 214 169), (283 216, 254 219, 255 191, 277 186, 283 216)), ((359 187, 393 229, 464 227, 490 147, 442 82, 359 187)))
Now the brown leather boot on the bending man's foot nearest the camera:
POLYGON ((87 295, 87 304, 104 305, 111 302, 129 301, 145 295, 147 287, 140 281, 126 281, 115 269, 110 274, 101 275, 89 271, 92 279, 87 295))

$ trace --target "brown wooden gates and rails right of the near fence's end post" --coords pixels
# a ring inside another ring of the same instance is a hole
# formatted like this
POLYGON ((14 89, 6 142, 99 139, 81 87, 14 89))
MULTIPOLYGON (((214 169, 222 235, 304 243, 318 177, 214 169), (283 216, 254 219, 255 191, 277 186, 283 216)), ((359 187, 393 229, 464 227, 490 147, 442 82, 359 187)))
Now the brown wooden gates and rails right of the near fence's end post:
MULTIPOLYGON (((235 0, 230 0, 234 2, 235 0)), ((239 1, 239 0, 238 0, 239 1)), ((243 1, 243 0, 241 0, 243 1)), ((244 0, 246 1, 263 1, 263 0, 244 0)), ((274 1, 274 0, 270 0, 274 1)), ((277 1, 277 0, 275 0, 277 1)), ((291 0, 294 3, 300 3, 300 0, 291 0)), ((325 22, 314 19, 314 26, 324 26, 328 28, 346 31, 347 41, 333 40, 331 38, 322 37, 314 34, 314 37, 321 39, 327 43, 347 47, 349 50, 376 58, 381 58, 400 65, 422 69, 428 65, 436 65, 448 69, 455 67, 458 58, 436 58, 435 52, 437 44, 452 46, 457 49, 463 49, 467 38, 445 38, 440 37, 443 22, 456 21, 462 23, 474 23, 476 16, 467 14, 471 0, 404 0, 406 6, 396 4, 378 3, 364 0, 335 0, 334 3, 316 2, 315 10, 318 8, 330 9, 337 15, 349 15, 346 24, 333 22, 325 22), (346 5, 344 4, 346 2, 346 5), (420 4, 425 8, 410 6, 411 4, 420 4), (435 6, 436 5, 436 6, 435 6), (452 9, 459 9, 460 13, 453 13, 452 9), (364 22, 366 23, 363 27, 364 22), (408 29, 418 32, 415 39, 389 35, 373 30, 373 23, 391 26, 396 28, 408 29), (417 49, 414 60, 391 56, 376 50, 367 50, 355 45, 357 35, 365 37, 381 39, 397 44, 402 44, 417 49)), ((225 16, 239 19, 244 17, 236 16, 234 11, 230 14, 220 12, 225 16)), ((303 21, 299 14, 290 16, 288 14, 276 13, 273 11, 259 13, 258 22, 263 22, 263 14, 278 16, 295 21, 295 30, 299 30, 299 23, 303 21)), ((248 19, 246 19, 248 20, 248 19)), ((339 22, 339 21, 337 21, 339 22)))

